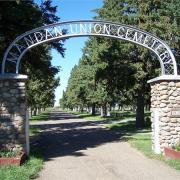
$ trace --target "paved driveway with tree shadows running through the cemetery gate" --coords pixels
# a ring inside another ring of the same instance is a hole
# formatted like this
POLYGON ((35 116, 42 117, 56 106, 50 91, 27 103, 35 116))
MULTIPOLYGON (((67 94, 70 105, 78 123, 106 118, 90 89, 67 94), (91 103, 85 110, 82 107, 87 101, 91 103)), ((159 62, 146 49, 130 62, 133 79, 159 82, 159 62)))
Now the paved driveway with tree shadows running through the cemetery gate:
POLYGON ((151 160, 124 142, 104 121, 52 112, 35 142, 45 164, 38 180, 180 180, 180 172, 151 160))

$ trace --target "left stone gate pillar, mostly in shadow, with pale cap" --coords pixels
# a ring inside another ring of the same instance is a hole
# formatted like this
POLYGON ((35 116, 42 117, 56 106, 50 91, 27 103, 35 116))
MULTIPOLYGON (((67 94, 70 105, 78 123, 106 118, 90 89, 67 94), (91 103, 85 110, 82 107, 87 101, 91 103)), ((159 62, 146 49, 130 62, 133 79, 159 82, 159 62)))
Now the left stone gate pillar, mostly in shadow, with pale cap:
POLYGON ((27 152, 26 81, 25 75, 0 76, 0 148, 27 152))

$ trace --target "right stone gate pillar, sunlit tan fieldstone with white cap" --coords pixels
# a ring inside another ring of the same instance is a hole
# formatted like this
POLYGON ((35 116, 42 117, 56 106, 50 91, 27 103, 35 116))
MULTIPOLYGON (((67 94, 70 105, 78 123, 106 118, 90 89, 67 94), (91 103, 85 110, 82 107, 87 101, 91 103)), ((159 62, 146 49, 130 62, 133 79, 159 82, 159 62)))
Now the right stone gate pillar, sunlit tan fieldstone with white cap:
POLYGON ((151 85, 152 148, 161 153, 164 147, 180 142, 180 77, 161 76, 151 85))

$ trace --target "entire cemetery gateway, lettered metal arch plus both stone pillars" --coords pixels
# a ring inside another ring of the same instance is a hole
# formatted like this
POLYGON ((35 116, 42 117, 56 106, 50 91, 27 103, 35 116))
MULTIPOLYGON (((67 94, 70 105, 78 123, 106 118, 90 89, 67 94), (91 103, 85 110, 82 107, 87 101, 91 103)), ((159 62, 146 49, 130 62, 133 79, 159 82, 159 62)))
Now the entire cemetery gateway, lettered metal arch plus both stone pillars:
POLYGON ((19 74, 23 55, 34 46, 70 37, 101 36, 129 41, 154 52, 161 75, 151 85, 152 148, 180 141, 180 76, 170 47, 158 37, 133 26, 98 20, 67 21, 42 26, 18 36, 7 48, 0 76, 0 139, 3 145, 22 147, 29 154, 26 75, 19 74), (13 126, 12 126, 13 125, 13 126))

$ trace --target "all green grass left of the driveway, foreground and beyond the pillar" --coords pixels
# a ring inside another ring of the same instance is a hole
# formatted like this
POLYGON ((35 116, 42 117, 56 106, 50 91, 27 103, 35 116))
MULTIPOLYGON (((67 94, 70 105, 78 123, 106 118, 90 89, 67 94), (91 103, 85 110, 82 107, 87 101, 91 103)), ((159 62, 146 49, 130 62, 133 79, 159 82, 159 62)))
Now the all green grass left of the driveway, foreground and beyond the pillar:
MULTIPOLYGON (((32 116, 30 121, 42 121, 49 118, 50 109, 32 116)), ((39 128, 30 128, 30 135, 35 135, 40 132, 39 128)), ((43 166, 43 158, 40 150, 31 147, 31 153, 22 166, 0 166, 0 180, 30 180, 37 177, 43 166)))

